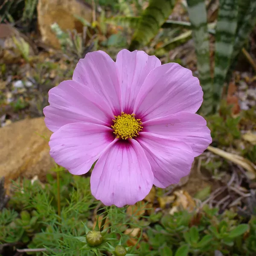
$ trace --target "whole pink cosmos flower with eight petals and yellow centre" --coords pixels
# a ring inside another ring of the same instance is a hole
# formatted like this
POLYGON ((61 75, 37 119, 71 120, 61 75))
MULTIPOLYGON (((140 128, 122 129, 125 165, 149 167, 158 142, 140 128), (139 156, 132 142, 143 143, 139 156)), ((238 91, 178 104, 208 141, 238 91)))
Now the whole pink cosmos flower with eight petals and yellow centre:
POLYGON ((74 175, 89 171, 91 192, 105 205, 135 204, 153 184, 165 188, 189 174, 212 142, 192 72, 161 65, 143 51, 87 53, 73 79, 49 91, 45 123, 55 162, 74 175))

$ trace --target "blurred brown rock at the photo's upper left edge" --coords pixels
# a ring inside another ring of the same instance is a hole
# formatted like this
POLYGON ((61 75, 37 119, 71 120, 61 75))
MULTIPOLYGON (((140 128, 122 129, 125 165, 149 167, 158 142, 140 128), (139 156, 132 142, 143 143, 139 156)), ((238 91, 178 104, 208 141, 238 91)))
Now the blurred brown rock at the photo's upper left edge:
POLYGON ((18 43, 28 44, 30 56, 36 53, 37 49, 29 38, 10 24, 0 24, 0 63, 14 64, 20 61, 21 53, 13 38, 18 43))

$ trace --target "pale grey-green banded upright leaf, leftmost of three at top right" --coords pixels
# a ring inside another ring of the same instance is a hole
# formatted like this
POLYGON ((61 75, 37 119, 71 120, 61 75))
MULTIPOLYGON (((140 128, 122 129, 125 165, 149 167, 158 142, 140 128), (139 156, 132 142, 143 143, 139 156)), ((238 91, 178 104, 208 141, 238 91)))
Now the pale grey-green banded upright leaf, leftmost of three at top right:
POLYGON ((204 91, 202 110, 206 113, 212 111, 212 78, 209 59, 209 34, 207 31, 207 11, 204 0, 187 0, 189 19, 192 25, 197 55, 199 79, 204 91))

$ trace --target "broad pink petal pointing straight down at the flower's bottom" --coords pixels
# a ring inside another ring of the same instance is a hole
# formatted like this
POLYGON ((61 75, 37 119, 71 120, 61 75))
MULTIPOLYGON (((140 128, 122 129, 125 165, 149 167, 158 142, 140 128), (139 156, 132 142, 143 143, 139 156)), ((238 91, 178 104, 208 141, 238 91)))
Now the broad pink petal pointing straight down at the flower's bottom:
POLYGON ((133 205, 148 195, 153 179, 140 144, 136 140, 118 140, 94 166, 90 179, 91 192, 107 206, 133 205))

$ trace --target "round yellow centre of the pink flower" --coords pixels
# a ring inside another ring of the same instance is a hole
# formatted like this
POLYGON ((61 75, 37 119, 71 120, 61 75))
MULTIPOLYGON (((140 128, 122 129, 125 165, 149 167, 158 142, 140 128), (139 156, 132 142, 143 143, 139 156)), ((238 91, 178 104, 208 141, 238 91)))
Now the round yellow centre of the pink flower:
POLYGON ((135 119, 135 114, 121 113, 119 116, 114 116, 114 124, 111 126, 116 134, 116 138, 127 140, 128 138, 136 137, 139 131, 142 130, 142 122, 140 119, 135 119))

